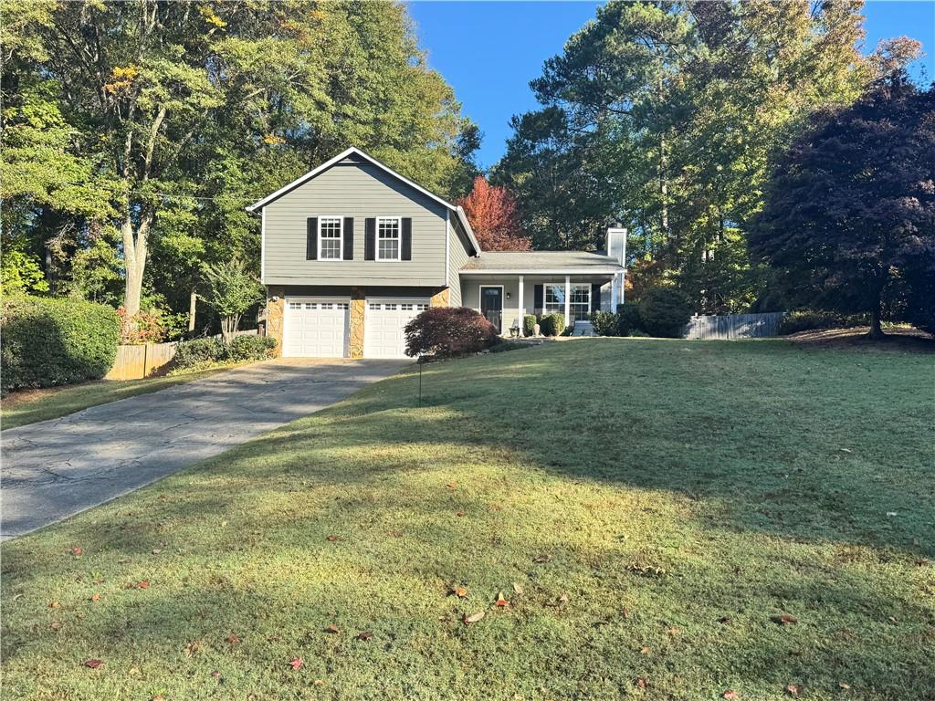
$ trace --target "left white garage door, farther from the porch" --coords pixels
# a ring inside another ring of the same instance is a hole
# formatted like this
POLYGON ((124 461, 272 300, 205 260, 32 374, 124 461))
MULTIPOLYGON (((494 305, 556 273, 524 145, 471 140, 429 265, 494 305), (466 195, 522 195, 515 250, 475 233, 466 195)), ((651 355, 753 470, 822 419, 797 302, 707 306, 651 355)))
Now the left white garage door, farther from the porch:
POLYGON ((350 340, 346 300, 288 297, 282 354, 291 358, 343 358, 350 340))

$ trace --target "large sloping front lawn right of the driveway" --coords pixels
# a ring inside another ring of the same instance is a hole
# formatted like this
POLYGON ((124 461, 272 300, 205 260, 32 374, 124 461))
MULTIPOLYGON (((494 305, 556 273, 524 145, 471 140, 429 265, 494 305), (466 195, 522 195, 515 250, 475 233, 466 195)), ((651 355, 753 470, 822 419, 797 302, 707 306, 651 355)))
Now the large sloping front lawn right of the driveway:
POLYGON ((7 543, 3 696, 931 698, 932 380, 617 338, 384 380, 7 543))

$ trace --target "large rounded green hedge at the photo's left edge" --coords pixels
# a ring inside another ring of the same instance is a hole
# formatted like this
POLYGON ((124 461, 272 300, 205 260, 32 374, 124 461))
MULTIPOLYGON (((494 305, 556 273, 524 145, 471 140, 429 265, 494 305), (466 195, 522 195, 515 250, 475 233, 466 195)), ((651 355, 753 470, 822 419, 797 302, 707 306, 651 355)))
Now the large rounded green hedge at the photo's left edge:
POLYGON ((3 303, 0 391, 101 379, 114 364, 120 317, 71 298, 15 297, 3 303))

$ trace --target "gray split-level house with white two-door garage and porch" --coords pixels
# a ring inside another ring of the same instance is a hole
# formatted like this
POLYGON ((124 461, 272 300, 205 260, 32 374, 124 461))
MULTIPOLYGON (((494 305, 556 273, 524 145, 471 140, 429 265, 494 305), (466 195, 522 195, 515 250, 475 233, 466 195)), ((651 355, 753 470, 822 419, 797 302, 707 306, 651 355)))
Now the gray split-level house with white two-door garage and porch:
POLYGON ((623 290, 626 230, 609 230, 611 255, 483 251, 461 207, 359 149, 247 208, 263 219, 266 333, 286 356, 402 358, 429 307, 477 309, 507 336, 524 314, 586 320, 623 290))

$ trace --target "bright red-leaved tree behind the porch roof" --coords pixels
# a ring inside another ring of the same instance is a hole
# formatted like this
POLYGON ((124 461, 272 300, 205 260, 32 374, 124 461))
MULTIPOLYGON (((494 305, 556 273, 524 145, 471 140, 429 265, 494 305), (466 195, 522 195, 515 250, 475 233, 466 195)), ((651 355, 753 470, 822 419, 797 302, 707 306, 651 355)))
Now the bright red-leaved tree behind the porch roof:
POLYGON ((458 202, 468 215, 482 250, 530 250, 532 241, 520 229, 516 200, 506 188, 474 179, 470 194, 458 202))

